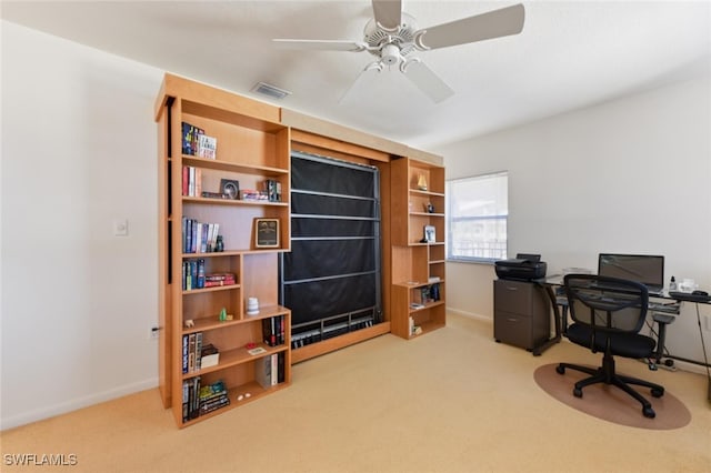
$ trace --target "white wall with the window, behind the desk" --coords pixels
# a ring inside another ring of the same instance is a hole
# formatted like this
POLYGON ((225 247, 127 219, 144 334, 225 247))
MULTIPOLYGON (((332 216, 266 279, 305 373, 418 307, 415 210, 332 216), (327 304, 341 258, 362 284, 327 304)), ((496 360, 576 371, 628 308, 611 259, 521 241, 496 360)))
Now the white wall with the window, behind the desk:
MULTIPOLYGON (((704 76, 437 151, 448 179, 509 171, 510 258, 541 253, 553 274, 595 270, 600 252, 663 254, 667 279, 693 278, 709 291, 710 130, 704 76)), ((447 263, 448 304, 492 318, 493 279, 491 266, 447 263)), ((704 336, 711 345, 711 331, 704 336)), ((703 360, 692 304, 669 328, 668 346, 703 360)))

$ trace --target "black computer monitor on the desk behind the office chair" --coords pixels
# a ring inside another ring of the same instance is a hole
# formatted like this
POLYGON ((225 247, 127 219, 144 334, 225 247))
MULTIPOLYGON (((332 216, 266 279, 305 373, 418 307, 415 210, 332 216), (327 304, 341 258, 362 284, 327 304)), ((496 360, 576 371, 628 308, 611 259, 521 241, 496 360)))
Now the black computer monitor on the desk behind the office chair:
POLYGON ((659 292, 664 288, 664 256, 600 253, 598 274, 641 282, 650 292, 659 292))

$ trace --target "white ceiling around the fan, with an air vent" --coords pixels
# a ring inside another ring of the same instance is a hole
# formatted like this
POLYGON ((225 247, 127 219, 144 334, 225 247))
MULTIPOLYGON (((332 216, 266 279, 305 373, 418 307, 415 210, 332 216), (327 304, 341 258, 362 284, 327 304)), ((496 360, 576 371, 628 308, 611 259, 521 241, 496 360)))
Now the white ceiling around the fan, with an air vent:
MULTIPOLYGON (((420 29, 515 1, 403 0, 420 29)), ((395 68, 359 81, 368 52, 294 51, 273 38, 363 39, 371 2, 2 1, 4 20, 414 148, 512 127, 698 73, 709 1, 523 1, 518 36, 417 53, 455 91, 433 104, 395 68)))

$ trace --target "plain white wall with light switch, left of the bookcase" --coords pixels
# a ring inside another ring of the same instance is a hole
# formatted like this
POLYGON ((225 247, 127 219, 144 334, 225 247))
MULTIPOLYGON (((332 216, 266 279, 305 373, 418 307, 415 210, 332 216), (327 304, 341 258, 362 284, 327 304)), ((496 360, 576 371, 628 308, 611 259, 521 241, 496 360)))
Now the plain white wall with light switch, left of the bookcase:
POLYGON ((157 385, 162 71, 1 28, 7 429, 157 385))

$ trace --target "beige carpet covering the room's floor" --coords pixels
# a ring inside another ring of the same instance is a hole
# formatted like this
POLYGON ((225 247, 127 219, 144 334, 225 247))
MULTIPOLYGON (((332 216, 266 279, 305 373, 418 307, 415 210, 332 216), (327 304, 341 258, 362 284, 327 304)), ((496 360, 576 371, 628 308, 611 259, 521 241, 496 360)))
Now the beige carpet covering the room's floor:
POLYGON ((491 321, 449 314, 445 328, 414 340, 383 335, 299 363, 289 389, 187 429, 176 427, 153 389, 0 432, 3 462, 21 454, 78 460, 63 467, 2 463, 0 471, 711 472, 705 376, 621 360, 621 372, 667 386, 692 413, 681 429, 640 430, 541 390, 533 372, 562 360, 594 364, 599 355, 563 342, 533 356, 495 343, 491 321))

